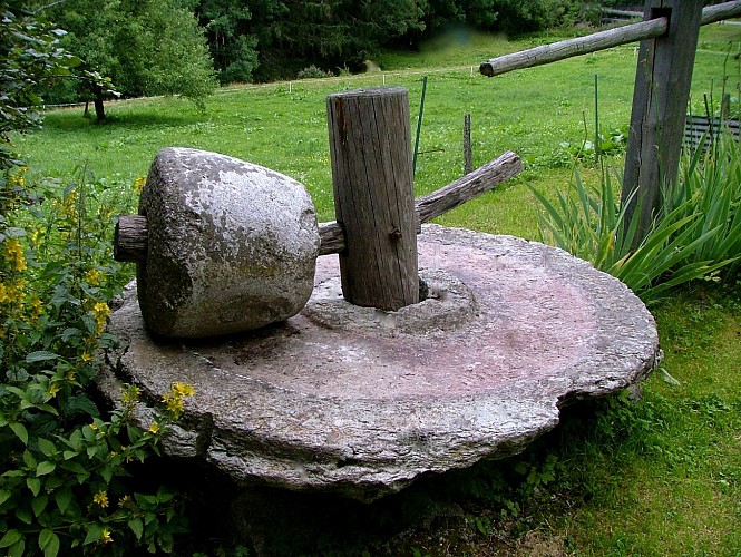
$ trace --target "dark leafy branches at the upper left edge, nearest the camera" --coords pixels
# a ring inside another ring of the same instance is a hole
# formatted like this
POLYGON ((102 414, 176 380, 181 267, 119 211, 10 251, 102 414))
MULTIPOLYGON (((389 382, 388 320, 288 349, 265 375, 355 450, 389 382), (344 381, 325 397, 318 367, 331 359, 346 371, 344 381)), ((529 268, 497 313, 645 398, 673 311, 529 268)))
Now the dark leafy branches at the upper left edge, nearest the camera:
MULTIPOLYGON (((0 1, 0 144, 10 144, 11 131, 41 124, 33 109, 41 101, 41 81, 68 76, 79 62, 59 47, 65 31, 23 13, 18 2, 0 1)), ((0 170, 21 164, 0 145, 0 170)))

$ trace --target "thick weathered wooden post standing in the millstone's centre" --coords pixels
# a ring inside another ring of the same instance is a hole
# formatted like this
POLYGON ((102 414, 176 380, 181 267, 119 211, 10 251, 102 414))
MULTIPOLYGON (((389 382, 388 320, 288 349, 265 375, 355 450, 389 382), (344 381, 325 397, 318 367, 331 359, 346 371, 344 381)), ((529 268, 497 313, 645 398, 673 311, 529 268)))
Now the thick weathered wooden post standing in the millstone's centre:
POLYGON ((409 98, 400 87, 326 99, 342 292, 396 311, 419 302, 409 98))

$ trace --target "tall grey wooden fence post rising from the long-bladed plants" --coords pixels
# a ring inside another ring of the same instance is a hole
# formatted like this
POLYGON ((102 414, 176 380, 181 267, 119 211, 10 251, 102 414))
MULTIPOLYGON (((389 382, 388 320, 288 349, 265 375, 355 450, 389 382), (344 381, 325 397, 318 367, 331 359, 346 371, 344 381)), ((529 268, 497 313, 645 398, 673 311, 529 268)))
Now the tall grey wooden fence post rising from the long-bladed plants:
POLYGON ((662 187, 676 179, 692 67, 698 47, 700 0, 646 0, 644 19, 669 18, 669 30, 641 42, 622 199, 626 222, 640 207, 640 242, 661 205, 662 187))

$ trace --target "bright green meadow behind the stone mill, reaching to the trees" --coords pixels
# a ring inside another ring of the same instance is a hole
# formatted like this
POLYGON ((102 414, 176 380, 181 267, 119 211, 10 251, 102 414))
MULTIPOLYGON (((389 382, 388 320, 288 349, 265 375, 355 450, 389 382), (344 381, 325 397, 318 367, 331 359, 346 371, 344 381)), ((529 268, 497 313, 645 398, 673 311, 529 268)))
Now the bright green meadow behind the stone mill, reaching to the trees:
MULTIPOLYGON (((739 60, 727 61, 723 49, 731 40, 730 27, 703 30, 708 48, 698 52, 694 105, 702 105, 703 94, 720 98, 725 76, 731 76, 725 88, 738 97, 739 60)), ((738 38, 738 28, 731 32, 731 38, 738 38)), ((111 102, 106 125, 81 118, 80 107, 53 110, 47 115, 43 131, 20 138, 18 147, 41 176, 69 176, 72 168, 85 164, 97 176, 128 182, 146 175, 163 147, 215 150, 302 182, 314 198, 320 219, 329 221, 333 207, 326 96, 383 84, 406 87, 413 136, 422 77, 428 76, 416 175, 418 195, 462 174, 466 114, 471 115, 475 166, 509 149, 526 162, 526 172, 513 185, 529 182, 544 189, 560 187, 571 177, 572 150, 594 138, 595 76, 601 130, 610 134, 627 126, 636 50, 620 47, 496 78, 478 74, 480 61, 543 40, 511 43, 499 37, 457 33, 419 55, 386 55, 379 59, 383 71, 377 74, 226 88, 208 100, 205 113, 174 98, 111 102), (572 147, 564 147, 564 143, 572 147)), ((503 189, 440 222, 532 237, 536 224, 530 195, 525 187, 503 189), (520 203, 523 198, 527 203, 520 203)))

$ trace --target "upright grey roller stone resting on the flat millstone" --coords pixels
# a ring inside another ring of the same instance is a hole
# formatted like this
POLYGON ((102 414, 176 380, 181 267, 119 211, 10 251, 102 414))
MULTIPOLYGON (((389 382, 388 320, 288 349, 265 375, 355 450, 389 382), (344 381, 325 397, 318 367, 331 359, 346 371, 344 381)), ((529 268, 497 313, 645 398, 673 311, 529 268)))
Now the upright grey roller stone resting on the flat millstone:
POLYGON ((149 226, 139 305, 165 336, 235 333, 295 315, 313 289, 319 228, 306 189, 216 153, 159 152, 142 192, 149 226))

